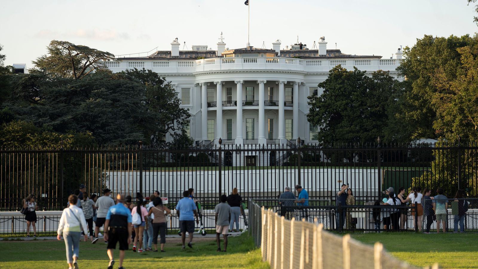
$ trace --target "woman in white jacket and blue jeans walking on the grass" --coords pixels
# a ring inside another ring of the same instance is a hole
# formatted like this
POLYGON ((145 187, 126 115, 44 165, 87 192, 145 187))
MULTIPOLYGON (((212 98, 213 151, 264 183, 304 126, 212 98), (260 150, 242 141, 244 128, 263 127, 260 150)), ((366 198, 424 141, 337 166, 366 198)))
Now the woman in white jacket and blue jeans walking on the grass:
POLYGON ((85 241, 88 239, 87 221, 83 210, 76 206, 78 197, 74 194, 68 197, 70 206, 63 210, 56 231, 56 239, 61 240, 61 234, 65 239, 66 262, 70 269, 78 269, 78 256, 80 254, 80 235, 81 230, 85 233, 85 241))

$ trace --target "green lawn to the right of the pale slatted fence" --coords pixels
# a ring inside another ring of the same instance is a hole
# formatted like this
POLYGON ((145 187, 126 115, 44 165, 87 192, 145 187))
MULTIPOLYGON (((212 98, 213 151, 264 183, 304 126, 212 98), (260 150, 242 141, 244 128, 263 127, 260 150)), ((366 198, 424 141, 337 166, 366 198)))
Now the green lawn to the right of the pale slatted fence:
POLYGON ((437 262, 440 268, 478 268, 478 234, 352 234, 363 243, 383 244, 391 255, 415 266, 437 262))

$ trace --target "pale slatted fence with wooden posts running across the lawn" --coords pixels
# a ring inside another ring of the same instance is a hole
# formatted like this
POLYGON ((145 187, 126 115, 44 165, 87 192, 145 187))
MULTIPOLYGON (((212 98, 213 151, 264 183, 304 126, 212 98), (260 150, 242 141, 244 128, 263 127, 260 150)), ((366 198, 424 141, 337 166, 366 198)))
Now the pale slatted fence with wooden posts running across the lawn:
POLYGON ((392 257, 380 243, 371 247, 350 235, 326 232, 317 221, 286 220, 253 200, 249 200, 249 218, 250 235, 261 247, 262 260, 273 269, 415 268, 392 257))

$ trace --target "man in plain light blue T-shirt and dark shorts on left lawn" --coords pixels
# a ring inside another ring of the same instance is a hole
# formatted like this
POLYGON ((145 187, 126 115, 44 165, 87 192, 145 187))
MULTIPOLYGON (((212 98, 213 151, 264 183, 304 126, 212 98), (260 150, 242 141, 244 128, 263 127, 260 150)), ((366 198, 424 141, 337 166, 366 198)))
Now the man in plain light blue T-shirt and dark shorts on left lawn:
POLYGON ((194 217, 196 216, 196 224, 199 224, 199 217, 197 215, 197 207, 193 200, 189 199, 189 191, 183 191, 183 199, 179 200, 176 205, 176 213, 179 217, 179 227, 181 229, 181 240, 183 241, 183 249, 185 248, 186 232, 189 233, 188 247, 193 248, 194 234, 194 217))

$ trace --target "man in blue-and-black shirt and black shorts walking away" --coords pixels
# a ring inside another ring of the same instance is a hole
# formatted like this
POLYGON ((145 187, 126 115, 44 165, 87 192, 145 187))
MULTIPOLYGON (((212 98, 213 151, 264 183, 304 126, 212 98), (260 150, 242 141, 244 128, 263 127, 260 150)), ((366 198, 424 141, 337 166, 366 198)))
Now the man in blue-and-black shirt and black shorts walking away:
POLYGON ((105 221, 104 237, 108 241, 108 269, 113 269, 115 263, 113 249, 116 248, 116 243, 120 243, 119 269, 123 269, 124 251, 128 250, 128 246, 131 244, 131 213, 124 205, 124 195, 118 194, 116 202, 116 205, 109 208, 105 221))

